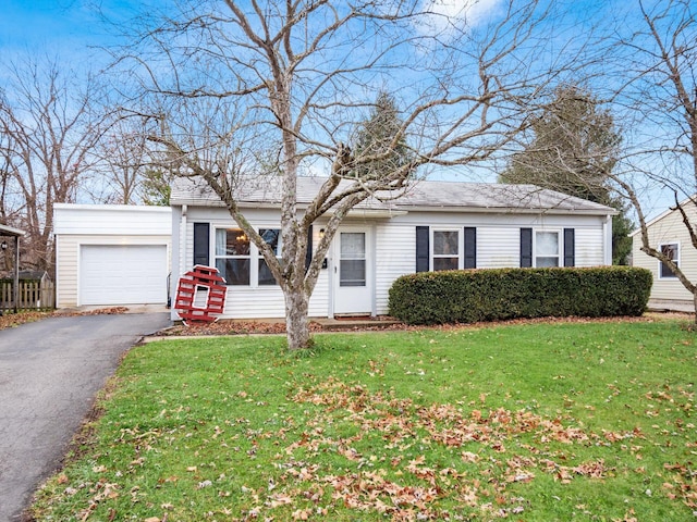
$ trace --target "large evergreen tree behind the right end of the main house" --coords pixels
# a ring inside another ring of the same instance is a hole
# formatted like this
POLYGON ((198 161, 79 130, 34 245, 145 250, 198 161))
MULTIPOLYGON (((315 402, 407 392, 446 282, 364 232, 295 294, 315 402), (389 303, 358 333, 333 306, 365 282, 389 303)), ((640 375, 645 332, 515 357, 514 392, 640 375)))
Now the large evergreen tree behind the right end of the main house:
POLYGON ((633 223, 610 184, 622 142, 612 114, 588 90, 563 85, 530 130, 530 141, 513 154, 499 182, 538 185, 619 210, 612 221, 612 262, 626 264, 633 223))

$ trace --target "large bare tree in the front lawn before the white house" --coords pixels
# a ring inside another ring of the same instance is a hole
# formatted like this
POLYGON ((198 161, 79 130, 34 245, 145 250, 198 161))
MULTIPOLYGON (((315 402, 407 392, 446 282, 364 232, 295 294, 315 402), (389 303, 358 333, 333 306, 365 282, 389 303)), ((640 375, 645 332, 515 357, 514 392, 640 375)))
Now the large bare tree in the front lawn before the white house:
POLYGON ((445 12, 438 2, 198 1, 148 22, 122 53, 159 119, 149 139, 163 163, 205 179, 279 282, 289 348, 311 343, 309 297, 353 207, 398 197, 419 167, 491 160, 547 84, 571 73, 565 60, 587 51, 578 39, 562 44, 554 2, 504 1, 489 14, 472 3, 445 12), (380 92, 400 109, 399 127, 387 147, 355 154, 352 137, 380 92), (408 161, 365 169, 405 144, 408 161), (299 210, 297 177, 317 171, 328 178, 299 210), (260 174, 282 185, 280 259, 237 201, 237 187, 260 174), (326 232, 306 270, 307 233, 320 216, 326 232))

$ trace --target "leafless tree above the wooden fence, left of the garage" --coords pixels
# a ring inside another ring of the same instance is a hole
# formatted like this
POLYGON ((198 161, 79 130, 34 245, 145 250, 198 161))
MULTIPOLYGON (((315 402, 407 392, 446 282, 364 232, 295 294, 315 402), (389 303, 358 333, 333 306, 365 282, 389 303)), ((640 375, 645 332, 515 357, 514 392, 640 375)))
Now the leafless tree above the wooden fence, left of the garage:
POLYGON ((75 200, 99 137, 90 85, 76 85, 69 74, 57 62, 44 69, 27 60, 9 67, 0 88, 1 208, 27 233, 23 262, 38 270, 53 268, 53 203, 75 200))

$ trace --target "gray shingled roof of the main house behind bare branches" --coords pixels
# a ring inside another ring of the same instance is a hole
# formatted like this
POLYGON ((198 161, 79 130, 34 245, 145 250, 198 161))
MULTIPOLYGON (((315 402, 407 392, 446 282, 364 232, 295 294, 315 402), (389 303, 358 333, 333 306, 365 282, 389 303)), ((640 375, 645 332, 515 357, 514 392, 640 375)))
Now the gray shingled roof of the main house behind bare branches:
MULTIPOLYGON (((298 177, 299 207, 311 201, 325 177, 298 177)), ((280 204, 279 178, 246 179, 236 190, 243 208, 274 208, 280 204)), ((347 187, 351 182, 342 182, 347 187)), ((223 207, 220 199, 200 178, 176 178, 170 202, 173 206, 223 207)), ((371 211, 451 211, 451 212, 548 212, 608 215, 617 211, 603 204, 548 190, 535 185, 496 183, 455 183, 417 181, 405 190, 380 191, 356 207, 371 211)))

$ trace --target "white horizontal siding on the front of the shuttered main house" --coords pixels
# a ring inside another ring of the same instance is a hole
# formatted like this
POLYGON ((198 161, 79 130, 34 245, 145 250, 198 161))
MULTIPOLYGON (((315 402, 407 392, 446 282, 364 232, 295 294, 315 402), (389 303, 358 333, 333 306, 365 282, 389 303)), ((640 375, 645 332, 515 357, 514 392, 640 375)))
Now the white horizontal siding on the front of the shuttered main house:
MULTIPOLYGON (((176 214, 175 214, 176 215, 176 214)), ((255 227, 279 227, 279 212, 256 209, 245 212, 255 227)), ((213 237, 216 226, 235 226, 224 209, 188 207, 182 215, 182 237, 180 262, 176 276, 191 270, 193 260, 193 223, 208 222, 211 225, 210 254, 213 262, 213 237)), ((539 215, 512 213, 453 213, 453 212, 409 212, 392 219, 347 219, 346 226, 372 226, 375 231, 375 311, 388 312, 389 289, 393 281, 411 274, 416 265, 416 226, 477 228, 478 268, 516 268, 519 265, 521 227, 535 229, 557 229, 572 227, 576 232, 576 265, 592 266, 603 264, 607 246, 603 244, 604 216, 598 215, 539 215)), ((178 226, 176 224, 174 226, 178 226)), ((314 225, 313 245, 319 241, 321 223, 314 225)), ((332 250, 328 253, 330 270, 333 266, 332 250)), ((322 270, 310 299, 310 316, 327 316, 330 310, 330 271, 322 270)), ((174 281, 176 281, 174 278, 174 281)), ((176 319, 173 312, 173 319, 176 319)), ((223 318, 282 318, 284 316, 283 295, 278 287, 230 286, 223 318)))

